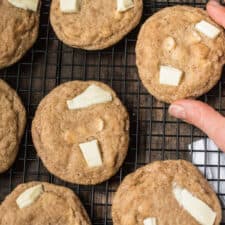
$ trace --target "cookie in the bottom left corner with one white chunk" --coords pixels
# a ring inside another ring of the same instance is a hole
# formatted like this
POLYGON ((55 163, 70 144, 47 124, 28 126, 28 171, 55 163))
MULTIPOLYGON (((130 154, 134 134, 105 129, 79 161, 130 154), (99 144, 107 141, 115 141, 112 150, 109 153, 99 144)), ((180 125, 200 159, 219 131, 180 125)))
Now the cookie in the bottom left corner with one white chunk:
POLYGON ((91 222, 72 190, 45 182, 29 182, 17 186, 2 202, 0 225, 6 224, 90 225, 91 222), (41 188, 39 192, 38 187, 41 188), (29 191, 30 188, 33 188, 32 193, 29 191))

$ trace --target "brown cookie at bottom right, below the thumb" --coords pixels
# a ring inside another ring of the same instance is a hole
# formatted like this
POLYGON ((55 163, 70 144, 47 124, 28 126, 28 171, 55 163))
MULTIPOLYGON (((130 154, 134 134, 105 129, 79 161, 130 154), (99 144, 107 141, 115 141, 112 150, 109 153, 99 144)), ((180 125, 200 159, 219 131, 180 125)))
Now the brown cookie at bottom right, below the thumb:
POLYGON ((199 225, 174 197, 174 183, 205 202, 216 212, 214 225, 220 224, 216 194, 197 168, 184 160, 154 162, 125 177, 113 199, 113 223, 143 225, 153 217, 158 225, 199 225))

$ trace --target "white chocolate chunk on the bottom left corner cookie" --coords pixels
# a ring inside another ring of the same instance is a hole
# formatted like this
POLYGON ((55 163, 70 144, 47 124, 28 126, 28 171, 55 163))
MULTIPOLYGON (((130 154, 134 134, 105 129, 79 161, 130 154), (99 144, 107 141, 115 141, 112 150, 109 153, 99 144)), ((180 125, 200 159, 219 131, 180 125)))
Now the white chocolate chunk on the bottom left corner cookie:
POLYGON ((20 196, 16 199, 16 204, 20 209, 25 208, 34 203, 43 192, 44 189, 42 184, 31 187, 20 194, 20 196))

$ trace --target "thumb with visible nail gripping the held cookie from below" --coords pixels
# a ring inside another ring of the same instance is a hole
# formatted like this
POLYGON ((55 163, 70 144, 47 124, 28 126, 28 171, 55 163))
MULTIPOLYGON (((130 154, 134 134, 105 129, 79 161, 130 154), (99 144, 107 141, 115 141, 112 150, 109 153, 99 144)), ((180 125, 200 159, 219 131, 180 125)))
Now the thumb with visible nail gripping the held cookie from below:
POLYGON ((225 151, 225 118, 207 104, 179 100, 170 105, 169 114, 195 125, 225 151))

